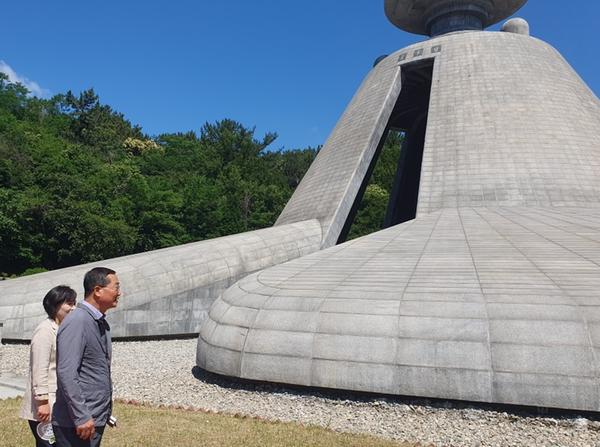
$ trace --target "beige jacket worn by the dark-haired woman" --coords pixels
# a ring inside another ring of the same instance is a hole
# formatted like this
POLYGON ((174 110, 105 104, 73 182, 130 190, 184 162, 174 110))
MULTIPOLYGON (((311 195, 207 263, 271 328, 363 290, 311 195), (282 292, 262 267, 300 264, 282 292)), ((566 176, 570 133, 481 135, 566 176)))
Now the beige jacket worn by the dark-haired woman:
POLYGON ((29 350, 29 377, 21 407, 21 417, 37 420, 37 400, 48 399, 50 408, 56 399, 56 331, 58 324, 49 318, 33 331, 29 350))

